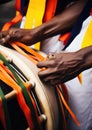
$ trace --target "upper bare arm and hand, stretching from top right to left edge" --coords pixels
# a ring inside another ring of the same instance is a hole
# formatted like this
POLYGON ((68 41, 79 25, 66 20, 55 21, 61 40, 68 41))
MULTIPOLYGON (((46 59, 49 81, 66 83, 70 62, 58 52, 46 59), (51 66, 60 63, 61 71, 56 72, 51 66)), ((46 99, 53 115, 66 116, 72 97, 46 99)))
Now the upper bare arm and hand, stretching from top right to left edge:
POLYGON ((87 0, 78 0, 75 4, 67 7, 61 14, 53 17, 50 21, 43 23, 37 28, 31 30, 15 28, 1 32, 0 37, 2 37, 3 40, 0 40, 0 44, 20 41, 27 45, 32 45, 51 36, 63 34, 72 28, 86 2, 87 0))

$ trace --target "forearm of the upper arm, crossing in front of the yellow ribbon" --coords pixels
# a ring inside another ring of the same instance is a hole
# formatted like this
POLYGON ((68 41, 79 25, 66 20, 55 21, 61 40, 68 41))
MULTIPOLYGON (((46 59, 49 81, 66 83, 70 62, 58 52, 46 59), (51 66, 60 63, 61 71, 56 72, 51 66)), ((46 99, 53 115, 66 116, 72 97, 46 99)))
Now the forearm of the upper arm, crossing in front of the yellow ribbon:
POLYGON ((49 22, 35 28, 34 30, 38 34, 36 35, 38 41, 70 31, 86 2, 87 0, 77 1, 75 4, 66 8, 61 14, 53 17, 49 22))

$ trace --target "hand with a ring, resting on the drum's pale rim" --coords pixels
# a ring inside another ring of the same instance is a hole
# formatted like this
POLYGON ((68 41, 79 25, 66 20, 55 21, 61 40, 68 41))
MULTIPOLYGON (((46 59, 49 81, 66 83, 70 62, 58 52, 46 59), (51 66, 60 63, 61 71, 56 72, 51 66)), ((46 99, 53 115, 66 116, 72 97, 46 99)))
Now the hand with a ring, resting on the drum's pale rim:
POLYGON ((83 70, 81 63, 82 58, 77 52, 52 53, 47 56, 47 59, 37 64, 39 68, 46 68, 38 75, 42 80, 53 85, 64 83, 80 74, 83 70))

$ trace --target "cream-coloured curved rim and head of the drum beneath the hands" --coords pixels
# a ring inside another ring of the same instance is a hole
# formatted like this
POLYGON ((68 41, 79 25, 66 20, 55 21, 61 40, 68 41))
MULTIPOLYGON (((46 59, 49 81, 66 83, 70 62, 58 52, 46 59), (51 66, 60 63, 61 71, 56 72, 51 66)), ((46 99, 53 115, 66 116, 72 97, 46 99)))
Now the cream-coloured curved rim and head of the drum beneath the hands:
MULTIPOLYGON (((11 60, 12 64, 16 66, 16 69, 21 72, 21 75, 23 75, 26 78, 26 80, 35 83, 34 97, 37 101, 39 115, 46 116, 46 120, 42 124, 43 130, 61 129, 62 116, 61 116, 59 101, 57 98, 55 87, 41 81, 41 79, 38 77, 39 69, 37 68, 37 66, 32 61, 24 57, 23 55, 19 54, 18 52, 12 49, 9 49, 3 46, 0 46, 0 52, 5 53, 5 55, 7 55, 8 59, 11 60)), ((14 104, 14 102, 15 101, 11 99, 11 105, 10 105, 11 108, 13 107, 12 104, 14 104)), ((13 107, 13 112, 15 111, 16 110, 14 110, 14 107, 13 107)), ((21 114, 19 117, 20 117, 19 120, 22 120, 21 114)), ((16 120, 18 121, 18 119, 16 120)), ((15 124, 17 123, 16 120, 15 120, 15 124)), ((23 122, 26 122, 26 121, 23 120, 23 122)), ((23 122, 22 124, 20 124, 21 126, 23 125, 23 122)), ((25 125, 25 127, 27 126, 25 125)), ((21 129, 21 127, 18 129, 23 130, 21 129)))

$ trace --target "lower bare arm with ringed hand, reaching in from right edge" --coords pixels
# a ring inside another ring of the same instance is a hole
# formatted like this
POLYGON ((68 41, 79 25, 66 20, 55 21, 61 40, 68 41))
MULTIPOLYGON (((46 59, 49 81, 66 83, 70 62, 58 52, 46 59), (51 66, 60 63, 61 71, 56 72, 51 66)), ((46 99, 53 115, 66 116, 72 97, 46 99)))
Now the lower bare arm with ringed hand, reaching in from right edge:
POLYGON ((92 46, 71 53, 49 54, 47 59, 38 63, 38 67, 46 68, 39 72, 45 82, 53 85, 64 83, 92 67, 92 46))

